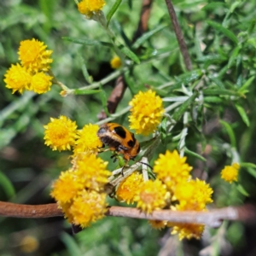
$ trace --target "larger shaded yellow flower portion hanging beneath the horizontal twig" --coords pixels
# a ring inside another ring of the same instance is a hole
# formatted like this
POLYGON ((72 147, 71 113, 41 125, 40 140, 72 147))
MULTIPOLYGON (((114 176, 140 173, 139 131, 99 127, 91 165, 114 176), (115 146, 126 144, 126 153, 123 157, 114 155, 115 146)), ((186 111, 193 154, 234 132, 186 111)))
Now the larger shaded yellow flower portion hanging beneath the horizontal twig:
POLYGON ((172 235, 178 233, 178 239, 183 240, 183 238, 191 239, 201 239, 201 234, 205 228, 202 224, 167 224, 167 226, 172 227, 172 235))

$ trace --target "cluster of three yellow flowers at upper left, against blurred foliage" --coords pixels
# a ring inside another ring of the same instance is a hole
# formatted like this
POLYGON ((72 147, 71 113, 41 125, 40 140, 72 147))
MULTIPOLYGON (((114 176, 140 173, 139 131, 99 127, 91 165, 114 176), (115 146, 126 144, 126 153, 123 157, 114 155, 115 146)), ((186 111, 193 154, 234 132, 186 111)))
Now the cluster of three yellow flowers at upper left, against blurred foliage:
POLYGON ((6 72, 4 82, 12 93, 24 90, 33 90, 42 94, 50 90, 52 85, 51 76, 47 74, 52 59, 49 56, 52 50, 36 39, 20 42, 19 60, 20 63, 12 65, 6 72))

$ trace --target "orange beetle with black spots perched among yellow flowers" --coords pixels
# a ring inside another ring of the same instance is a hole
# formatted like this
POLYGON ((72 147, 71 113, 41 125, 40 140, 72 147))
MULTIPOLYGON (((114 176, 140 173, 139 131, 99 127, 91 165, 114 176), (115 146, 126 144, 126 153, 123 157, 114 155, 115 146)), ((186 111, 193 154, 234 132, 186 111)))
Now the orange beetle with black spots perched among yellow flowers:
POLYGON ((103 144, 108 145, 110 150, 123 154, 126 162, 134 160, 140 152, 141 147, 134 134, 119 124, 102 125, 97 131, 97 136, 103 144))

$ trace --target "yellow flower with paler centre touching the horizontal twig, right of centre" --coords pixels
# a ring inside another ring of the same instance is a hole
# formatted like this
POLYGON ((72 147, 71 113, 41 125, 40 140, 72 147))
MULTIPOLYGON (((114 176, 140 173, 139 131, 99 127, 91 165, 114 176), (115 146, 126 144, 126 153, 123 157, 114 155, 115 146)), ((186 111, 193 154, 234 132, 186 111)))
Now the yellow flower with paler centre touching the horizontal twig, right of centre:
POLYGON ((137 201, 137 208, 150 213, 165 207, 168 199, 170 199, 170 193, 167 192, 166 185, 156 179, 144 182, 134 201, 137 201))

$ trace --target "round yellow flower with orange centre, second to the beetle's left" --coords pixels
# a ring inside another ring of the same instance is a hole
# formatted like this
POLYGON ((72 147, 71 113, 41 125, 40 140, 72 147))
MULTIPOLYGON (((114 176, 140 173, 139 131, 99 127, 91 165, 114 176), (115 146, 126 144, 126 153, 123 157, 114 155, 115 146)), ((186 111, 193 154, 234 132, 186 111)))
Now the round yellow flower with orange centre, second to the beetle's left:
POLYGON ((61 115, 59 119, 50 118, 44 129, 45 144, 53 150, 70 150, 75 143, 77 125, 66 116, 61 115))

